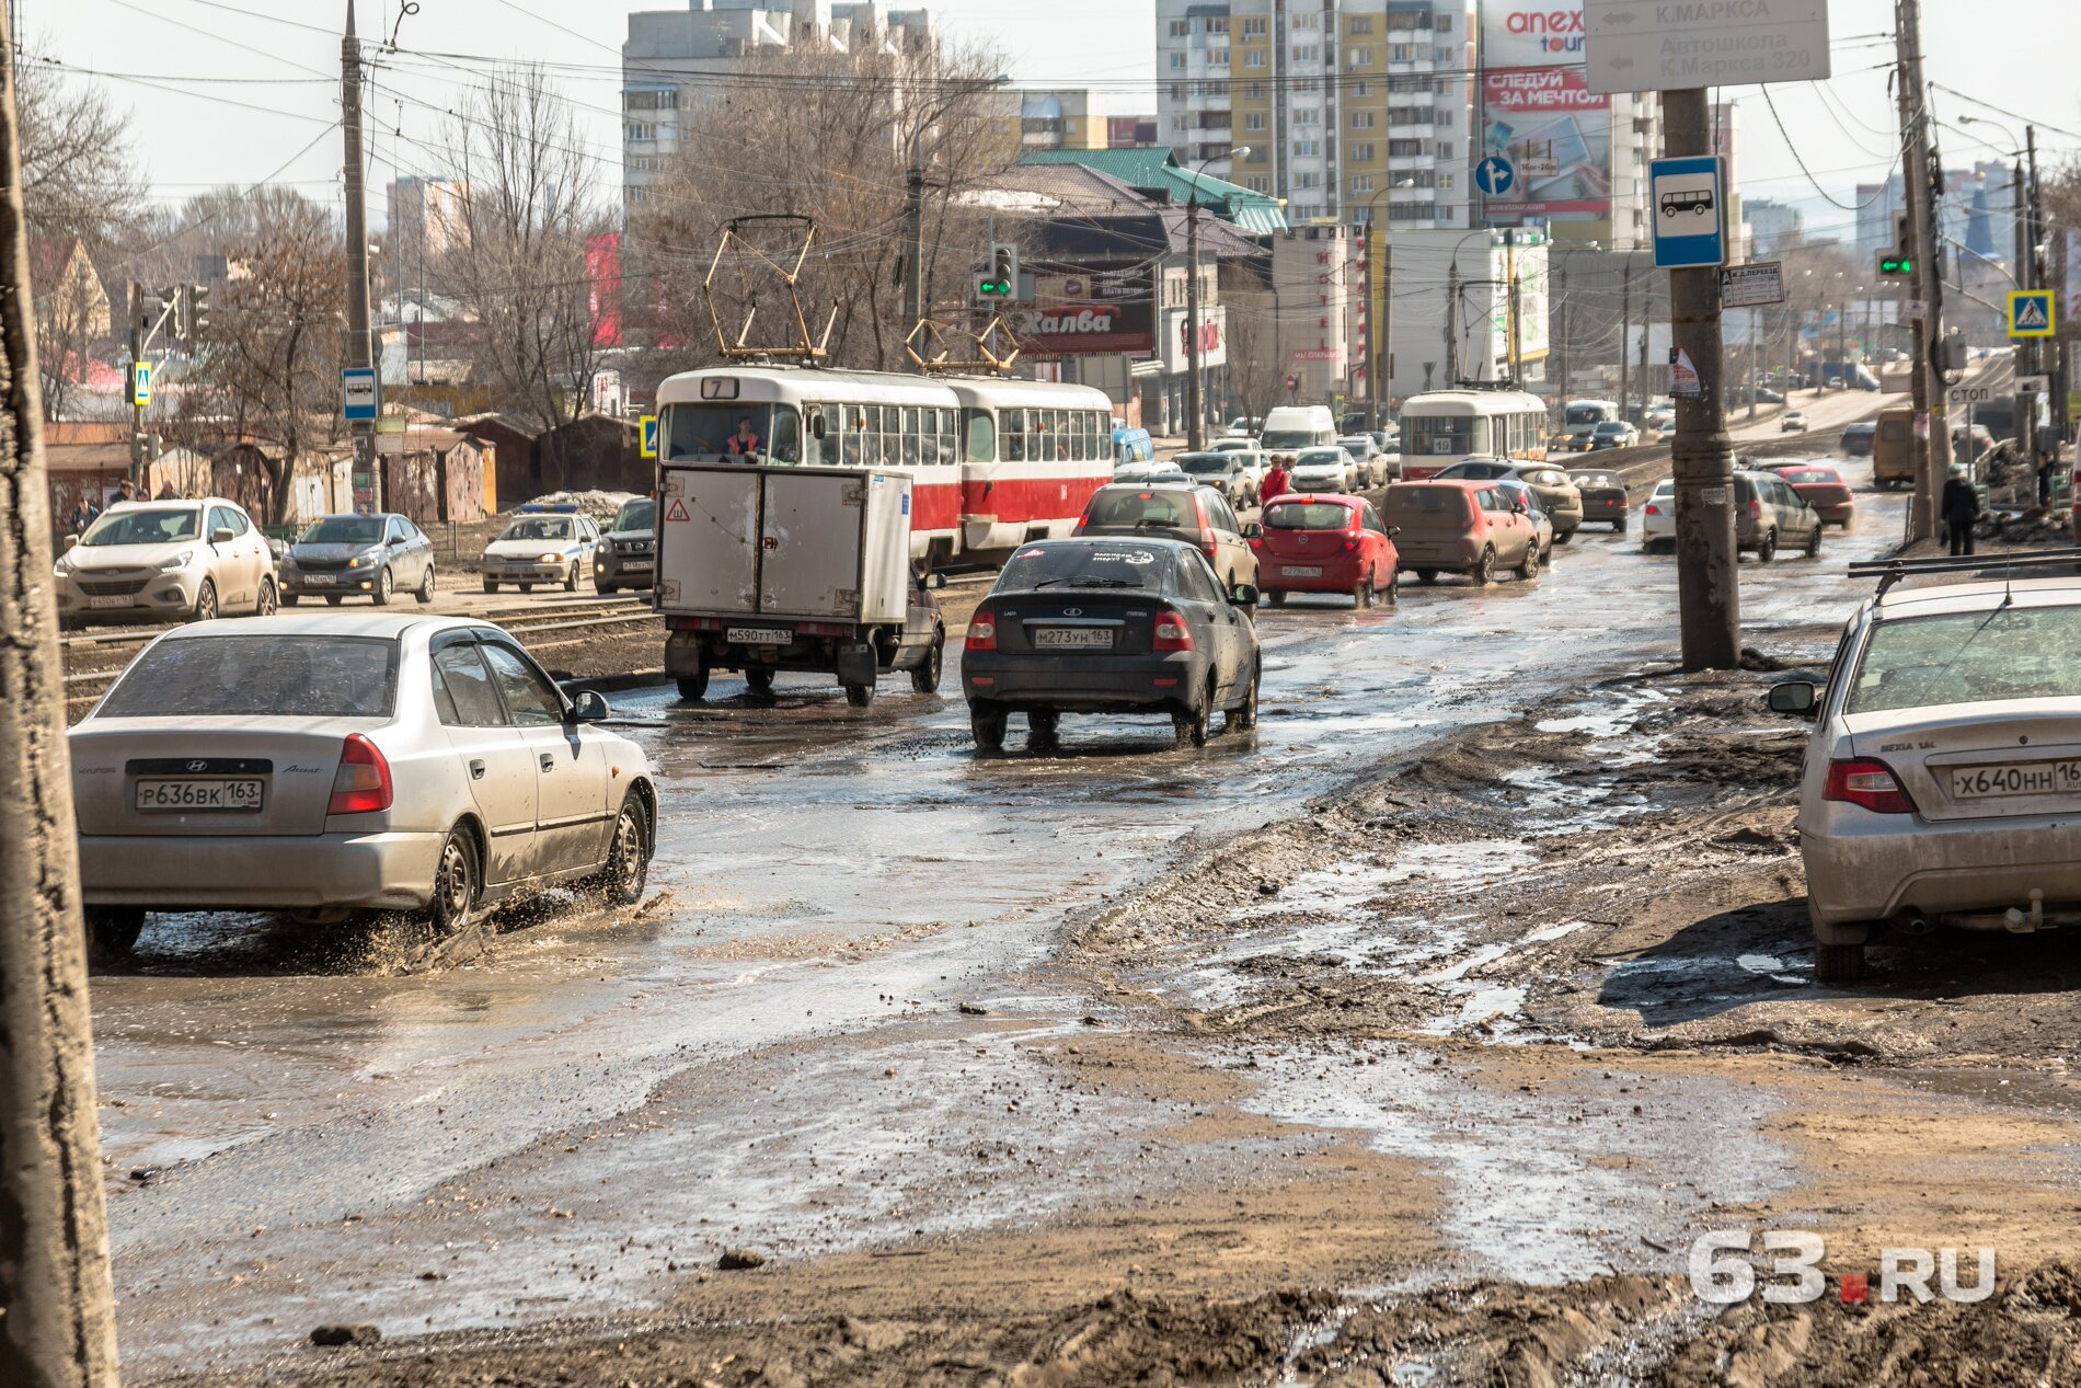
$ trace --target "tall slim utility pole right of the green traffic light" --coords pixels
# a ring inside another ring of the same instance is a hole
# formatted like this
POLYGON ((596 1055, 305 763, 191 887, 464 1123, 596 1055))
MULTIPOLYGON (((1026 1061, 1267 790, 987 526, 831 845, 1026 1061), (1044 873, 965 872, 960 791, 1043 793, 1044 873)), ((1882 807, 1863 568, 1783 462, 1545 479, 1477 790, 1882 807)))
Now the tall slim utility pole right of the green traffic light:
POLYGON ((1923 87, 1923 6, 1921 0, 1896 0, 1894 33, 1898 37, 1900 137, 1908 158, 1902 171, 1906 191, 1908 235, 1915 241, 1915 298, 1923 316, 1915 320, 1915 506, 1908 512, 1908 539, 1937 537, 1937 487, 1942 462, 1950 443, 1950 422, 1944 410, 1944 370, 1937 352, 1944 343, 1944 277, 1937 273, 1935 183, 1929 152, 1929 100, 1923 87))

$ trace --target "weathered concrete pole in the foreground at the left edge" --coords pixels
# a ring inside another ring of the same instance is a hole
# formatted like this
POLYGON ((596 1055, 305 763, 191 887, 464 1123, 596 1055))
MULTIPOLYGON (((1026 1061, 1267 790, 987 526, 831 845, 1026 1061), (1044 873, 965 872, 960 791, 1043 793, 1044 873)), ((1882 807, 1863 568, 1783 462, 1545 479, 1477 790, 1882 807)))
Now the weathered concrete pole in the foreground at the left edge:
MULTIPOLYGON (((15 54, 12 8, 0 50, 15 54)), ((114 1388, 85 930, 15 65, 0 65, 0 1384, 114 1388)))

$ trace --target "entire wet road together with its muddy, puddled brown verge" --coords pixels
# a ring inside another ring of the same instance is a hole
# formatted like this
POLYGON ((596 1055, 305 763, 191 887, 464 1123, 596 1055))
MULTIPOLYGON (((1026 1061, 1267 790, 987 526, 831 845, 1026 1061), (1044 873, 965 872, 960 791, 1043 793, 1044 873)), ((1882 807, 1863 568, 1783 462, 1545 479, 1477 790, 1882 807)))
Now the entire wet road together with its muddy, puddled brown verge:
MULTIPOLYGON (((1758 666, 1827 660, 1902 524, 1858 502, 1744 562, 1758 666)), ((2081 959, 1817 988, 1802 724, 1765 670, 1669 672, 1638 516, 1534 585, 1259 628, 1261 728, 1188 753, 1065 720, 978 760, 893 687, 618 695, 651 897, 435 968, 154 920, 96 980, 131 1382, 1881 1382, 1773 1378, 1771 1336, 1892 1332, 1715 1315, 1696 1232, 2071 1246, 2081 959)))

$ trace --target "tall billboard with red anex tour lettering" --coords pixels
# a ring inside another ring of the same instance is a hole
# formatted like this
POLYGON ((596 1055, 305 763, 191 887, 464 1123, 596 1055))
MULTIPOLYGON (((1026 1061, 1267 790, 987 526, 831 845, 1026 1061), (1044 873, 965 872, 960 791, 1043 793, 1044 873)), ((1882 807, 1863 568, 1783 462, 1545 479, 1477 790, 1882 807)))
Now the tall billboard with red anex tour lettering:
POLYGON ((1611 216, 1611 98, 1582 67, 1582 0, 1509 0, 1482 19, 1482 144, 1517 169, 1490 216, 1611 216))

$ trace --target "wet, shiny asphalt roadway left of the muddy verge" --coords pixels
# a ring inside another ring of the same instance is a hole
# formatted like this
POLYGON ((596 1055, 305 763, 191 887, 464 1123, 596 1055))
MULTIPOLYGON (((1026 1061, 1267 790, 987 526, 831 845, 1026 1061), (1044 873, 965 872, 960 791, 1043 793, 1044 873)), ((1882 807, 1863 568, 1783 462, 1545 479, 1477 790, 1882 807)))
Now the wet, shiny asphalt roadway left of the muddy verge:
MULTIPOLYGON (((1858 506, 1821 560, 1744 560, 1752 637, 1848 614, 1844 562, 1902 524, 1894 497, 1858 506)), ((703 705, 618 695, 664 795, 653 899, 549 909, 466 968, 329 970, 271 922, 154 920, 94 986, 125 1359, 626 1311, 720 1246, 830 1253, 1159 1188, 1142 1140, 1190 1107, 1070 1105, 1018 1045, 1117 1020, 1047 982, 1068 914, 1432 737, 1671 662, 1675 566, 1640 551, 1636 510, 1532 585, 1294 599, 1259 633, 1261 728, 1203 751, 1065 718, 1057 749, 1013 720, 980 760, 951 660, 943 695, 889 680, 866 712, 807 676, 764 703, 733 678, 703 705), (1057 1159, 982 1199, 955 1153, 1007 1140, 1007 1103, 1057 1159)), ((1261 1107, 1334 1122, 1346 1101, 1307 1074, 1278 1068, 1261 1107)))

